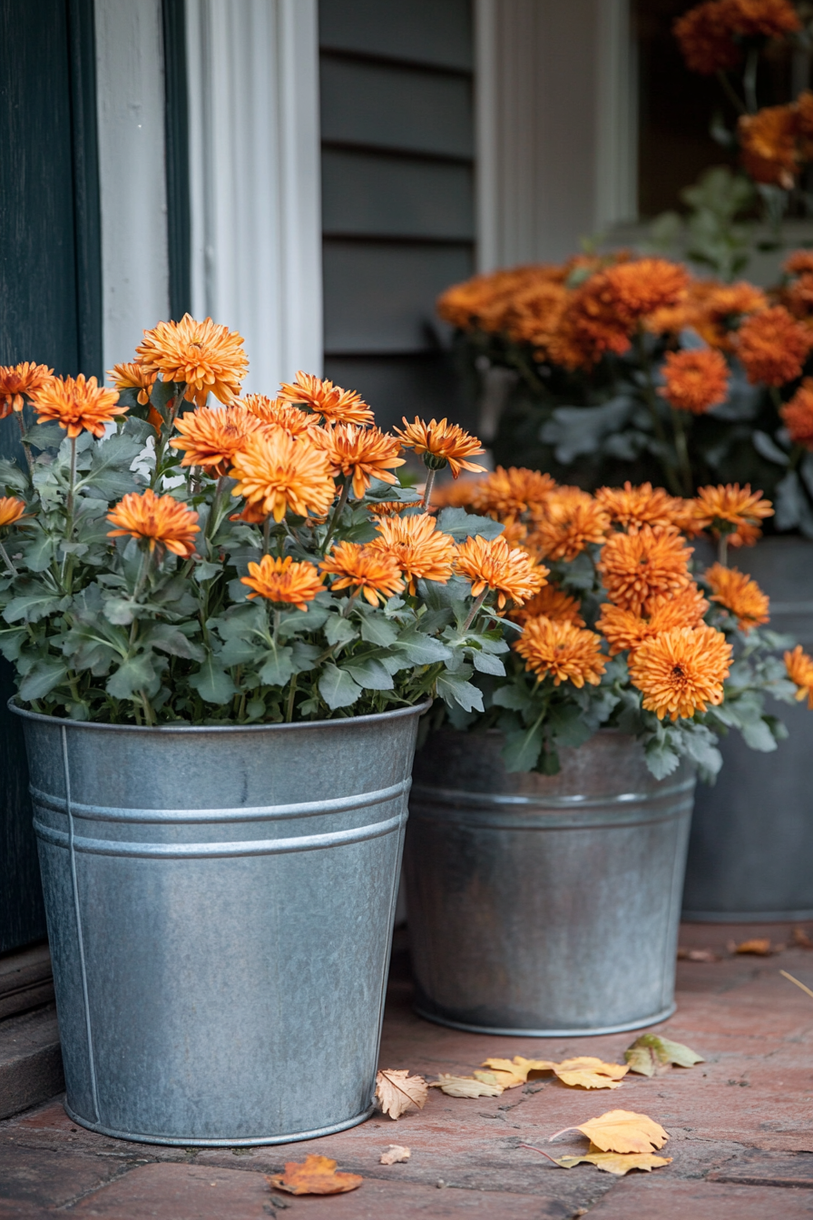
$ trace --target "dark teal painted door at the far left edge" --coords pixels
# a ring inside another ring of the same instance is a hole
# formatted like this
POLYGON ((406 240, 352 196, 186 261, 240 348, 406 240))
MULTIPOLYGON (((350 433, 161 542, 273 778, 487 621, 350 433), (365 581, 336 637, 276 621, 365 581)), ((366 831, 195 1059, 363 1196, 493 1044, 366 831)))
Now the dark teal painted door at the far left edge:
MULTIPOLYGON (((0 365, 101 373, 93 0, 0 0, 0 365)), ((13 418, 0 454, 21 458, 13 418)), ((45 935, 22 732, 0 659, 0 953, 45 935)))

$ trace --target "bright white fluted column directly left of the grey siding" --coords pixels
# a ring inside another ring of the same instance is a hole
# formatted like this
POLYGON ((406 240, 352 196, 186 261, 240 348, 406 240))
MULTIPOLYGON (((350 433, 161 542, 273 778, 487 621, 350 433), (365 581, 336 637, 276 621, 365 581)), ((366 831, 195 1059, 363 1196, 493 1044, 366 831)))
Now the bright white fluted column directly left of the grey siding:
POLYGON ((322 371, 316 0, 186 0, 191 293, 245 388, 322 371))

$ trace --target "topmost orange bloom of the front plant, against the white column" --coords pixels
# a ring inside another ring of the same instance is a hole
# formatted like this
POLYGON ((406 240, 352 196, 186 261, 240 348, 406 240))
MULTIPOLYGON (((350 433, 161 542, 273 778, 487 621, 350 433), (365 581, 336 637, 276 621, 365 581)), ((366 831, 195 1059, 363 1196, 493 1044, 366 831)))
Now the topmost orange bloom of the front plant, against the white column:
POLYGON ((210 394, 218 403, 232 403, 249 371, 243 336, 216 326, 211 317, 196 322, 184 314, 180 322, 158 322, 144 332, 144 342, 135 350, 146 371, 161 373, 163 381, 184 383, 184 398, 196 406, 205 406, 210 394))

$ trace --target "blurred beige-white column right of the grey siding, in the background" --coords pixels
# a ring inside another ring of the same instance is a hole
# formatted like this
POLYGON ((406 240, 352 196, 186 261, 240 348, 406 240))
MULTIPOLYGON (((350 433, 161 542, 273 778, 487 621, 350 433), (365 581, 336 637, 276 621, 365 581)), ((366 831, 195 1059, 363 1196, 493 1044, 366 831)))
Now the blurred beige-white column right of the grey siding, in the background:
POLYGON ((475 0, 479 266, 634 216, 629 0, 475 0))

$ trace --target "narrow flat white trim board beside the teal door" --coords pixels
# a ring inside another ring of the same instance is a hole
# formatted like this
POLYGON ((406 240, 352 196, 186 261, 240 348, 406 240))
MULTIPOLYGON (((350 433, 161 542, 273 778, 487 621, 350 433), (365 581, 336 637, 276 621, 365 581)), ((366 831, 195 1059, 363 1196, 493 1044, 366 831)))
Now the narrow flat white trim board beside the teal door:
POLYGON ((95 0, 105 368, 169 315, 161 0, 95 0))

